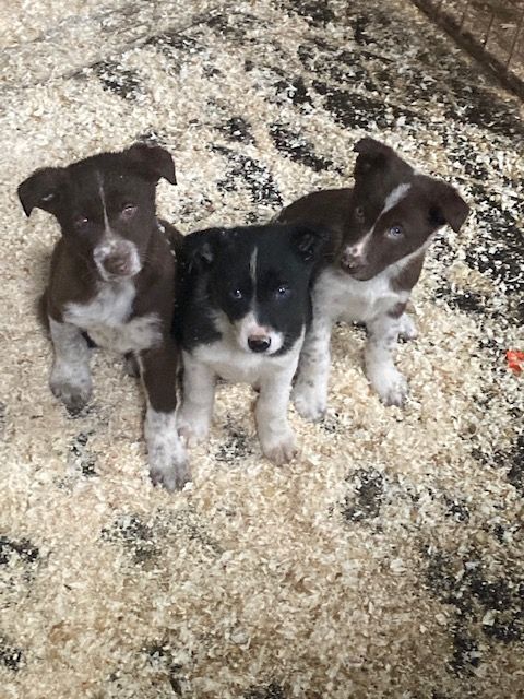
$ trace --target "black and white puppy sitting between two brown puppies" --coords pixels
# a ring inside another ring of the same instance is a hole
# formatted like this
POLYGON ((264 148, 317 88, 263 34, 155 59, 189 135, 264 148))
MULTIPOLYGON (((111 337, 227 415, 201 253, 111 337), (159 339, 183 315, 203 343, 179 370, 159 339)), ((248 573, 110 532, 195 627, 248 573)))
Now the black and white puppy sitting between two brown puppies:
POLYGON ((287 405, 311 318, 311 273, 324 240, 323 232, 303 225, 212 228, 186 237, 178 428, 189 445, 207 436, 222 377, 260 390, 262 451, 276 464, 293 459, 287 405))

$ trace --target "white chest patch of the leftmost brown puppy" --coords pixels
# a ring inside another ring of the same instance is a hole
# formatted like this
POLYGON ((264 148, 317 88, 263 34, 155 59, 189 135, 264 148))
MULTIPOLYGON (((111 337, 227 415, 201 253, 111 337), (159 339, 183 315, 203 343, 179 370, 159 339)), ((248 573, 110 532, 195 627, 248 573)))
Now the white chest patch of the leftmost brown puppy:
POLYGON ((157 313, 128 320, 135 287, 131 281, 105 284, 88 304, 69 304, 63 318, 78 325, 100 347, 114 352, 140 352, 162 339, 157 313))

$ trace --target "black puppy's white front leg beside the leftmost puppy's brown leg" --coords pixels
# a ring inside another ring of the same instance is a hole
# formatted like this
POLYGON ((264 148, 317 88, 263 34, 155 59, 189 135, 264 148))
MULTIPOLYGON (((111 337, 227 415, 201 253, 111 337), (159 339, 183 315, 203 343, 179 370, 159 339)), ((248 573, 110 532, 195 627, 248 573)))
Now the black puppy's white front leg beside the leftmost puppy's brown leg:
POLYGON ((189 353, 183 353, 183 399, 177 424, 189 447, 207 438, 213 417, 215 381, 212 369, 189 353))

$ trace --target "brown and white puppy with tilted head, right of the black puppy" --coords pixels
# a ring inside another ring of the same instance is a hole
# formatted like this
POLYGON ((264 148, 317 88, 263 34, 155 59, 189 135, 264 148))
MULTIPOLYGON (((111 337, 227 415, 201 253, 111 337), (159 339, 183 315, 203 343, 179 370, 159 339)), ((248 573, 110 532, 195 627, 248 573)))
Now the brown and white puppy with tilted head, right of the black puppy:
POLYGON ((355 187, 313 192, 284 209, 277 221, 322 225, 331 248, 313 286, 313 322, 294 388, 298 412, 320 419, 327 402, 333 322, 364 322, 366 371, 386 405, 402 405, 407 384, 393 363, 398 335, 415 337, 405 312, 434 234, 457 232, 469 208, 453 187, 421 175, 392 149, 360 140, 355 187))

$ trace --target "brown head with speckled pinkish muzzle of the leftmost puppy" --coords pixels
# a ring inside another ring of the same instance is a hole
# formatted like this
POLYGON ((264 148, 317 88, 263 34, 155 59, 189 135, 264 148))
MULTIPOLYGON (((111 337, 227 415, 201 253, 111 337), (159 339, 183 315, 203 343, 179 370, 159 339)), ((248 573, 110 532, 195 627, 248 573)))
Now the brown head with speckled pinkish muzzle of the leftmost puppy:
POLYGON ((71 252, 88 260, 102 280, 116 281, 142 269, 160 177, 176 183, 170 154, 138 143, 68 167, 38 169, 17 193, 27 216, 33 209, 53 214, 71 252))

